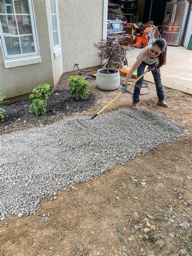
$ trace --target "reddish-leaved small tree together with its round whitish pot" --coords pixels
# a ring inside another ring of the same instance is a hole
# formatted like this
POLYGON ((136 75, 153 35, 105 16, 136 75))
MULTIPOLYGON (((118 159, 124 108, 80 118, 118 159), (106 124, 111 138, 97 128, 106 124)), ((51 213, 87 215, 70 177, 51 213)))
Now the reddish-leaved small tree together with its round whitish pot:
POLYGON ((117 68, 123 66, 126 60, 126 50, 132 48, 126 44, 128 35, 119 36, 111 33, 107 40, 102 39, 94 46, 100 51, 98 57, 107 61, 107 67, 97 71, 96 85, 99 89, 110 91, 115 90, 120 84, 120 73, 117 68))

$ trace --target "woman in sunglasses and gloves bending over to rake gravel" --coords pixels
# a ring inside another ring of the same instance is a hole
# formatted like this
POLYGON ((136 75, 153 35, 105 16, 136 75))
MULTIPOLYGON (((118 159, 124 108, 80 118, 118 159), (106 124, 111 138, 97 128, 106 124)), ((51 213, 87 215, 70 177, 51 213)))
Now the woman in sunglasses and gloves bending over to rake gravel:
MULTIPOLYGON (((168 104, 164 100, 164 91, 162 87, 160 67, 166 62, 166 42, 164 39, 157 39, 152 45, 147 45, 141 50, 137 56, 136 62, 133 64, 132 68, 127 74, 124 84, 122 85, 122 93, 126 92, 127 83, 134 72, 137 69, 137 76, 139 77, 144 73, 146 65, 151 67, 151 72, 154 77, 154 82, 156 85, 156 91, 158 96, 158 103, 162 107, 168 107, 168 104)), ((133 102, 132 108, 138 110, 139 107, 137 103, 139 102, 139 95, 141 87, 143 84, 143 77, 136 82, 133 92, 133 102)))

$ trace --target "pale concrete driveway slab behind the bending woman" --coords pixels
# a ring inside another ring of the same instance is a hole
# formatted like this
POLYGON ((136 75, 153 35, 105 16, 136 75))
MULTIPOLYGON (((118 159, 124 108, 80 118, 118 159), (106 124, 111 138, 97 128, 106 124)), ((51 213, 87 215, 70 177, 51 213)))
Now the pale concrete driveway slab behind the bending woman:
MULTIPOLYGON (((127 52, 129 67, 132 66, 141 49, 134 48, 127 52)), ((162 83, 171 89, 192 94, 192 51, 185 47, 168 46, 167 64, 161 68, 162 83)), ((145 80, 154 82, 150 73, 145 80)))

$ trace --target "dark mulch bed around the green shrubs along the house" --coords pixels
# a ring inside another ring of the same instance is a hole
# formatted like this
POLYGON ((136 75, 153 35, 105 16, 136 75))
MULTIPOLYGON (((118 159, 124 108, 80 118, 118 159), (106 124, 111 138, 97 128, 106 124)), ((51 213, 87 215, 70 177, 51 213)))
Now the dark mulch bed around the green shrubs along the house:
POLYGON ((62 116, 83 112, 90 109, 96 102, 95 94, 91 93, 87 100, 75 100, 68 91, 68 79, 59 81, 56 90, 49 99, 49 112, 47 115, 34 117, 29 111, 30 100, 22 100, 11 105, 3 105, 4 121, 0 124, 0 133, 7 133, 34 125, 47 124, 61 119, 62 116))

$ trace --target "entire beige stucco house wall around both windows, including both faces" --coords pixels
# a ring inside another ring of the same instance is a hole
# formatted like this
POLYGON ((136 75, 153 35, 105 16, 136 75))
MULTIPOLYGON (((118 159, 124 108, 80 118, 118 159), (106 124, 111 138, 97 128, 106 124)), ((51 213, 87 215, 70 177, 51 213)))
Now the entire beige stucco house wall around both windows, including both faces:
POLYGON ((0 88, 7 98, 32 92, 36 85, 57 85, 61 75, 101 64, 93 43, 103 35, 103 3, 107 0, 58 0, 61 53, 54 58, 49 0, 34 0, 41 63, 5 68, 0 50, 0 88), (43 14, 43 15, 42 15, 43 14))

